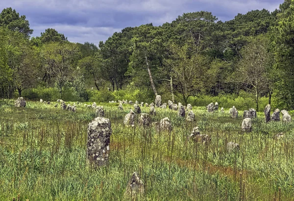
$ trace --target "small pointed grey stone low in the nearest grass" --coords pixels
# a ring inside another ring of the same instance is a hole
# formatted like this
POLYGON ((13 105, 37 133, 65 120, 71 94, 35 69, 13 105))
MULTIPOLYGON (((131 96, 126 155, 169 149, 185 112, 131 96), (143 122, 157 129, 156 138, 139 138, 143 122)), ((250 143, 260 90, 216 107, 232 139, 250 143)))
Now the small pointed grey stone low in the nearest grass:
POLYGON ((144 184, 138 174, 134 172, 126 185, 124 197, 126 200, 136 201, 144 194, 144 184))

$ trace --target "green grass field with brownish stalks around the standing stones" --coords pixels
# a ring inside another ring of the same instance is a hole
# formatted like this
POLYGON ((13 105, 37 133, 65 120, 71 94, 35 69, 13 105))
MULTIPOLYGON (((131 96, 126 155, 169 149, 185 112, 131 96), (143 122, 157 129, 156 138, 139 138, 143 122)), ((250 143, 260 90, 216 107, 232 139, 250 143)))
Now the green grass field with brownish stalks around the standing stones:
MULTIPOLYGON (((229 108, 222 114, 194 107, 196 121, 188 123, 176 111, 156 108, 152 122, 169 117, 173 126, 171 133, 158 133, 154 127, 123 125, 132 105, 120 111, 118 103, 98 104, 113 132, 109 165, 93 169, 86 162, 86 142, 95 111, 84 103, 76 113, 54 104, 27 101, 17 108, 13 100, 0 100, 1 201, 18 195, 22 201, 127 200, 124 191, 135 171, 145 185, 144 201, 294 199, 294 123, 266 124, 258 112, 252 132, 244 133, 243 111, 232 119, 229 108), (187 141, 195 126, 211 136, 209 144, 187 141), (283 138, 276 137, 279 132, 283 138), (240 150, 228 152, 230 141, 240 150)), ((148 113, 149 107, 141 110, 148 113)))

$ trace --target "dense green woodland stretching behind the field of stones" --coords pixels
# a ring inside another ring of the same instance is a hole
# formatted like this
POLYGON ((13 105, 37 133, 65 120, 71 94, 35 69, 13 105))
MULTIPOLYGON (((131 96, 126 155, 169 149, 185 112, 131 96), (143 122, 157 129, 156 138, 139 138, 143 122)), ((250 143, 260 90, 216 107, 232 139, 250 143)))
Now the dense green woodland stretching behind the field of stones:
POLYGON ((294 109, 292 0, 227 22, 206 11, 184 13, 161 26, 126 27, 98 46, 69 42, 52 28, 32 32, 13 8, 0 13, 0 98, 108 101, 130 93, 187 104, 246 93, 257 110, 261 98, 294 109))

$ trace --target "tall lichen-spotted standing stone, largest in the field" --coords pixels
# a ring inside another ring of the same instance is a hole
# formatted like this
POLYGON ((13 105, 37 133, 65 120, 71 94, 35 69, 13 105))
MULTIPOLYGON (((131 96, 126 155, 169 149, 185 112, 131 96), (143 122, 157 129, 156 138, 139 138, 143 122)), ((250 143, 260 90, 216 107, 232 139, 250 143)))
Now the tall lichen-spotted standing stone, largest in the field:
POLYGON ((109 119, 97 117, 88 126, 87 159, 95 166, 104 166, 108 162, 110 135, 109 119))

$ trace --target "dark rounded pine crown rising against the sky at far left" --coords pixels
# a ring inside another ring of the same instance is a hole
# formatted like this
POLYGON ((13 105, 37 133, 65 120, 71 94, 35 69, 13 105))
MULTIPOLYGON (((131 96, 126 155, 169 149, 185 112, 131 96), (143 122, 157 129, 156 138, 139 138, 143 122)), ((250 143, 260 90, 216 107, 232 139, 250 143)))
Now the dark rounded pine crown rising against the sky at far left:
POLYGON ((0 13, 0 26, 6 27, 12 31, 18 31, 28 37, 33 33, 33 29, 29 28, 29 23, 25 20, 25 15, 20 16, 19 13, 12 8, 4 8, 0 13))

